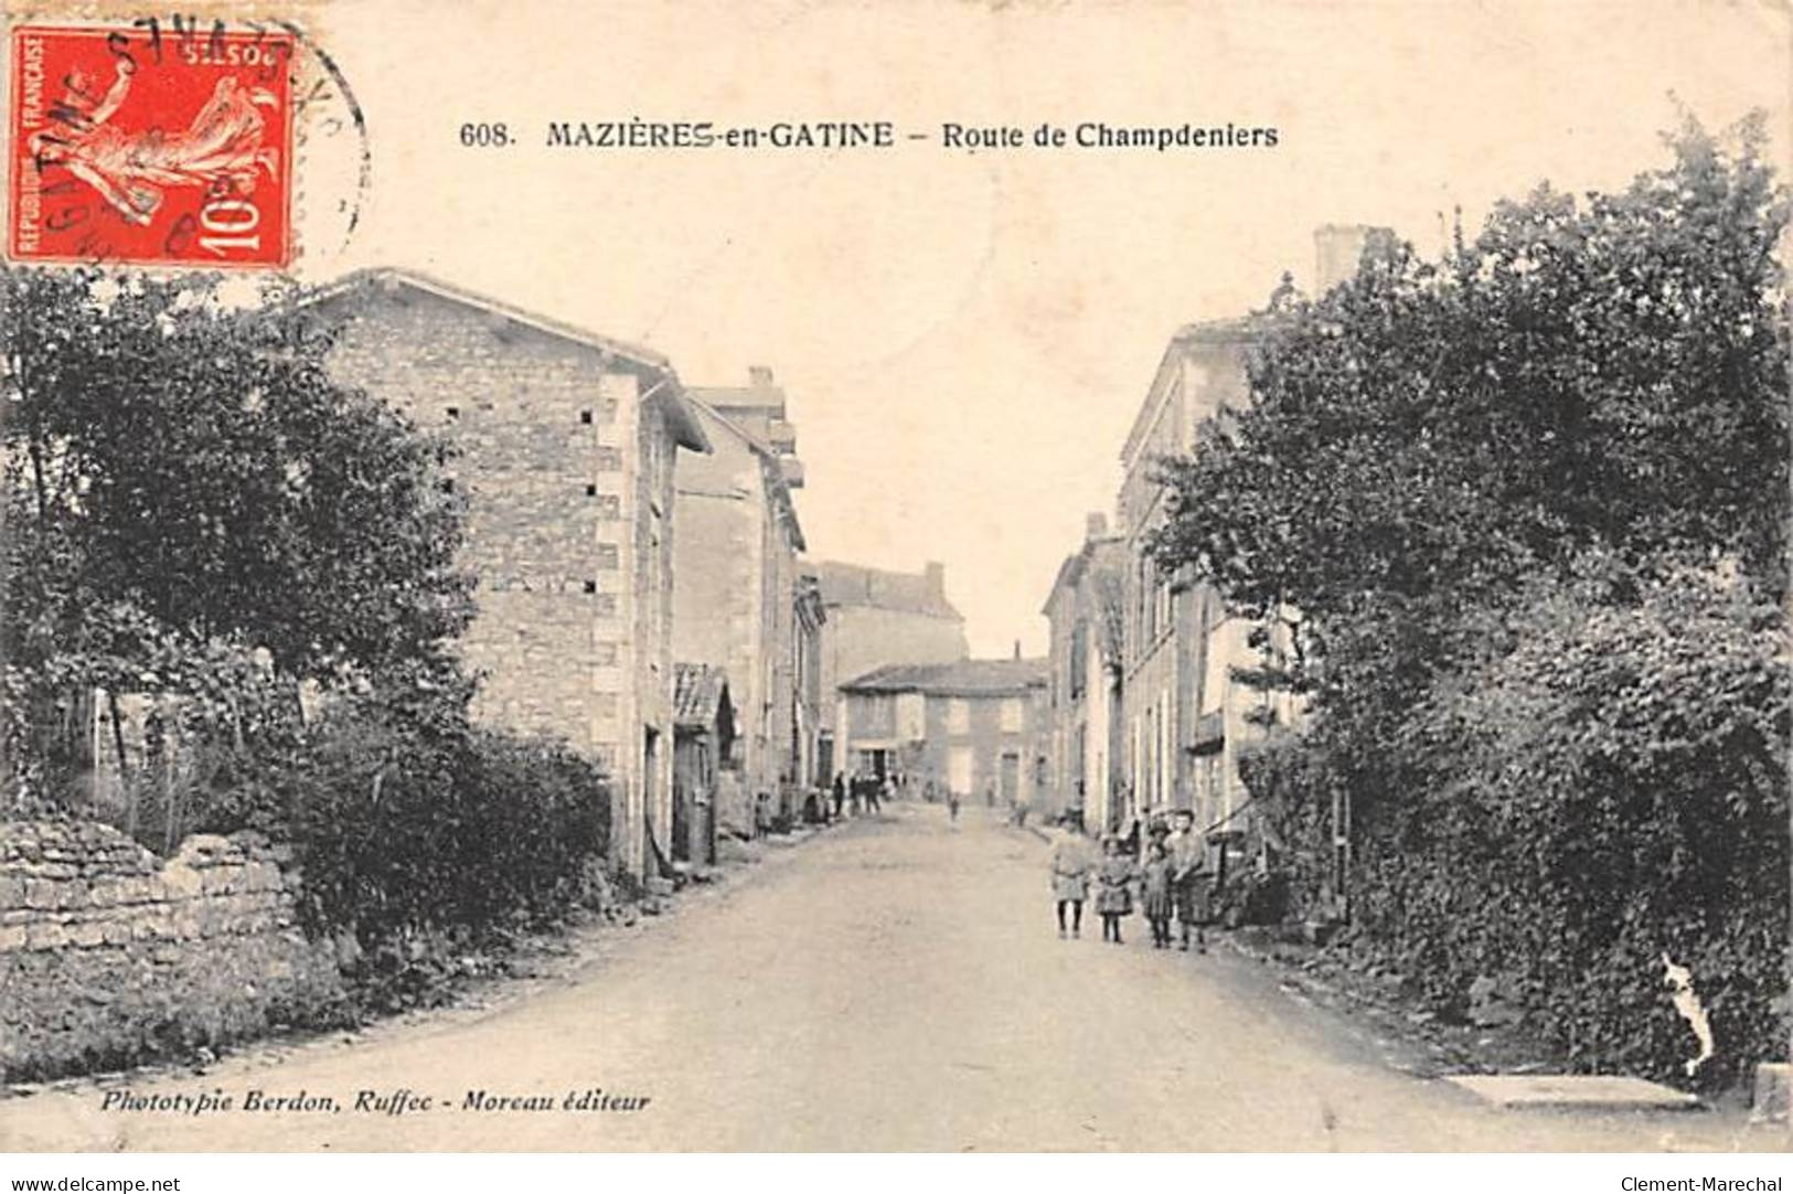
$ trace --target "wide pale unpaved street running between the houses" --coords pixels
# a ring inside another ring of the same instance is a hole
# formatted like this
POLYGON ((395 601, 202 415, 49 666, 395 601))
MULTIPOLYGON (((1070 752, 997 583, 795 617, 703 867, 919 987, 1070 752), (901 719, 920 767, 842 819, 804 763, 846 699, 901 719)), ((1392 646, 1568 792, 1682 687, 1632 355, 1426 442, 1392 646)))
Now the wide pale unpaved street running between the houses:
MULTIPOLYGON (((615 930, 576 981, 484 1017, 246 1049, 0 1103, 0 1147, 156 1151, 1771 1149, 1719 1112, 1515 1113, 1404 1074, 1225 945, 1052 927, 1045 844, 898 807, 615 930), (389 1099, 393 1092, 411 1099, 389 1099), (590 1095, 568 1110, 568 1095, 590 1095), (100 1110, 133 1097, 230 1112, 100 1110), (314 1110, 242 1110, 303 1094, 314 1110), (378 1110, 355 1110, 357 1092, 378 1110), (479 1095, 477 1092, 484 1092, 479 1095), (472 1110, 473 1103, 488 1110, 472 1110), (423 1106, 421 1101, 429 1104, 423 1106), (610 1110, 590 1110, 611 1101, 610 1110), (640 1103, 645 1099, 645 1104, 640 1103), (319 1101, 337 1106, 317 1110, 319 1101), (522 1101, 522 1103, 516 1103, 522 1101), (545 1110, 534 1110, 543 1103, 545 1110), (635 1110, 626 1110, 633 1106, 635 1110), (393 1113, 393 1110, 403 1113, 393 1113)), ((1094 918, 1092 918, 1094 920, 1094 918)))

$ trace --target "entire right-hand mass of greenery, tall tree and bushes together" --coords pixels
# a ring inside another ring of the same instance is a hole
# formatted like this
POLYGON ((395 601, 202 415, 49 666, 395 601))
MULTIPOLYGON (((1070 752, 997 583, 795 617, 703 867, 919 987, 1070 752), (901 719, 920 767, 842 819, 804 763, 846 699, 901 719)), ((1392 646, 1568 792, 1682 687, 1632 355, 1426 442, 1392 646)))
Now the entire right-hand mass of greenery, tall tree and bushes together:
POLYGON ((1786 1045, 1788 204, 1755 124, 1671 145, 1266 312, 1156 547, 1300 626, 1312 719, 1248 782, 1305 904, 1341 796, 1357 948, 1685 1077, 1667 954, 1716 1079, 1786 1045))

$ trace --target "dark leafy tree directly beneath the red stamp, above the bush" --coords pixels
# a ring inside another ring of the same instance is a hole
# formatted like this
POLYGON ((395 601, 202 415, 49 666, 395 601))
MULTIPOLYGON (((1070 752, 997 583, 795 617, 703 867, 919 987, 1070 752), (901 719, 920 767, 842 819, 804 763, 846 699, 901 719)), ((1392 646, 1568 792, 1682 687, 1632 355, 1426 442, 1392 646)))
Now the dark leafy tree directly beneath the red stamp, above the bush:
POLYGON ((9 269, 0 307, 14 792, 52 782, 86 688, 201 697, 240 733, 269 672, 448 667, 472 606, 445 448, 330 378, 330 328, 212 278, 9 269))

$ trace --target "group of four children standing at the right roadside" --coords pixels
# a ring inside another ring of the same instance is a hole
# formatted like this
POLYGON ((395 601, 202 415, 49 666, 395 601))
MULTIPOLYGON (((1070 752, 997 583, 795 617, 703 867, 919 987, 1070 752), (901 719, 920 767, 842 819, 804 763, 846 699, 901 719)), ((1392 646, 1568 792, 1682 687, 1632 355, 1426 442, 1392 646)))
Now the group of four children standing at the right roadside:
POLYGON ((1058 905, 1058 936, 1083 936, 1083 904, 1096 893, 1103 941, 1121 945, 1121 921, 1135 904, 1151 927, 1151 947, 1171 948, 1171 920, 1182 930, 1182 948, 1191 943, 1207 954, 1207 925, 1214 916, 1214 873, 1208 852, 1196 834, 1189 809, 1171 812, 1171 823, 1155 821, 1140 844, 1139 859, 1126 853, 1119 835, 1103 837, 1101 855, 1074 828, 1065 828, 1052 846, 1052 900, 1058 905), (1067 916, 1069 914, 1069 916, 1067 916))

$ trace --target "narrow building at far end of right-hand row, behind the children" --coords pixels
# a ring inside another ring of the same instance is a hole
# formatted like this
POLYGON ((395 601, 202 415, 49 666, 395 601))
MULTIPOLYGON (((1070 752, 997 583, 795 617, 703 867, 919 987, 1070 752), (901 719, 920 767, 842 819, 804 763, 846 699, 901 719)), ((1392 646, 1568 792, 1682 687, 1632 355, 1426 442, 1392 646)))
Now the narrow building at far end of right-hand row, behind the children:
POLYGON ((1065 558, 1045 601, 1047 785, 1044 818, 1072 814, 1104 826, 1124 780, 1121 669, 1126 545, 1090 515, 1083 547, 1065 558))

